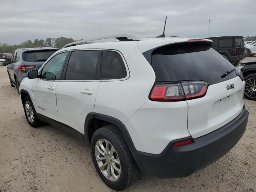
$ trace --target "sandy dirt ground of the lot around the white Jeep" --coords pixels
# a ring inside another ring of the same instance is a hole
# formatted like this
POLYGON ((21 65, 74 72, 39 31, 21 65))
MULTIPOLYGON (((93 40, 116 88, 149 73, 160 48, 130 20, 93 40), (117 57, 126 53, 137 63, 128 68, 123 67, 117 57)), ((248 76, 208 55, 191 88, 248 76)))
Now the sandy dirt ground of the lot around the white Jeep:
MULTIPOLYGON (((0 98, 2 192, 112 191, 96 173, 88 146, 53 126, 28 125, 18 92, 10 86, 6 66, 0 66, 0 98)), ((250 112, 247 130, 220 160, 186 178, 140 176, 124 191, 256 192, 256 102, 244 102, 250 112)))

